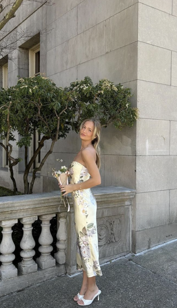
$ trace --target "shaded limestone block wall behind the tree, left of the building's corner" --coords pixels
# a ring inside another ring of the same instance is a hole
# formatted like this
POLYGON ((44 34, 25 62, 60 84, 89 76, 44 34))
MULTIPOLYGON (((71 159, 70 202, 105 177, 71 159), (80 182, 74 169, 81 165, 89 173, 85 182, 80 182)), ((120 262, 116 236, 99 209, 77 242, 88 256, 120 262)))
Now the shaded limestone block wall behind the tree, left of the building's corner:
MULTIPOLYGON (((19 8, 16 23, 32 33, 40 32, 40 71, 45 72, 57 86, 67 86, 76 79, 90 76, 93 83, 106 77, 114 83, 131 87, 134 92, 132 105, 137 99, 137 47, 138 3, 136 0, 107 1, 56 1, 52 6, 40 6, 34 2, 19 8)), ((11 31, 10 21, 5 30, 11 31)), ((18 63, 9 61, 9 85, 18 77, 27 76, 28 59, 20 53, 22 47, 31 46, 27 39, 18 42, 14 56, 18 63)), ((50 140, 41 151, 41 157, 50 148, 50 140)), ((15 149, 16 150, 16 149, 15 149)), ((51 168, 59 168, 56 158, 68 165, 80 150, 80 138, 70 132, 65 140, 55 144, 40 177, 36 179, 35 192, 58 189, 51 176, 51 168)), ((101 138, 101 186, 123 185, 135 188, 136 124, 121 132, 113 126, 102 130, 101 138)), ((23 149, 20 157, 24 157, 23 149)), ((23 191, 24 165, 17 165, 14 174, 18 188, 23 191)), ((1 170, 1 174, 3 175, 1 170)), ((30 181, 30 177, 29 177, 30 181)), ((3 182, 0 180, 0 184, 3 182)), ((10 181, 9 181, 10 182, 10 181)), ((7 184, 10 186, 10 183, 7 184)))

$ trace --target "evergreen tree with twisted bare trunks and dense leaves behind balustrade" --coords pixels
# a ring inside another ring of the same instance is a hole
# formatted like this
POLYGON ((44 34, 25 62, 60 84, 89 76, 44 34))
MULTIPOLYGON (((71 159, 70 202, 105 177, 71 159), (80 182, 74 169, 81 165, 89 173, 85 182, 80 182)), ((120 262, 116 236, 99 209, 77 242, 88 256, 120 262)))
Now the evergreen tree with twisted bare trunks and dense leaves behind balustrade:
POLYGON ((40 171, 52 153, 54 144, 60 138, 66 138, 70 127, 78 132, 80 122, 85 118, 97 118, 103 127, 113 124, 122 129, 133 126, 138 119, 138 109, 131 107, 131 89, 121 84, 114 85, 108 79, 101 79, 93 85, 89 77, 71 83, 70 87, 56 87, 56 84, 43 76, 19 79, 14 87, 0 92, 0 134, 7 140, 6 148, 0 145, 8 154, 11 179, 14 192, 17 192, 13 176, 13 166, 20 158, 12 157, 14 132, 21 136, 17 145, 25 148, 24 193, 32 193, 36 172, 40 171), (42 134, 42 139, 33 156, 28 160, 28 147, 34 128, 42 134), (33 171, 31 184, 28 174, 45 140, 51 139, 51 147, 44 156, 38 168, 33 171))

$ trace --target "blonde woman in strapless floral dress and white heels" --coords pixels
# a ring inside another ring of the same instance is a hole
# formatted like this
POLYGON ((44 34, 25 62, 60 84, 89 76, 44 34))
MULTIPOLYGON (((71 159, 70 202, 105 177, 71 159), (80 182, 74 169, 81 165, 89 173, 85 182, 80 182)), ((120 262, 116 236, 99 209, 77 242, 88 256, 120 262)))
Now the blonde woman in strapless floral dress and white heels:
POLYGON ((80 126, 81 149, 70 165, 70 184, 60 185, 63 196, 71 193, 77 235, 77 269, 83 271, 80 292, 74 297, 81 306, 90 305, 101 293, 96 275, 102 276, 99 265, 97 235, 97 202, 90 188, 101 184, 100 132, 98 120, 84 120, 80 126), (90 177, 91 176, 91 177, 90 177))

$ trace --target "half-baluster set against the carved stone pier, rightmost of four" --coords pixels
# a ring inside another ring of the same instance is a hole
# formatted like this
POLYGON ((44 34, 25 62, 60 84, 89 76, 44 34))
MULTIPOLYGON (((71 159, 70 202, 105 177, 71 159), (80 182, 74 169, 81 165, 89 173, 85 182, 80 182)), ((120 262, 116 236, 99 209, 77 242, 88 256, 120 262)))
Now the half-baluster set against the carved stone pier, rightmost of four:
POLYGON ((56 234, 56 237, 58 239, 56 246, 59 250, 54 254, 54 258, 56 259, 56 262, 58 264, 62 265, 65 264, 66 262, 65 249, 67 240, 67 232, 66 232, 67 213, 59 213, 58 216, 60 225, 56 234))

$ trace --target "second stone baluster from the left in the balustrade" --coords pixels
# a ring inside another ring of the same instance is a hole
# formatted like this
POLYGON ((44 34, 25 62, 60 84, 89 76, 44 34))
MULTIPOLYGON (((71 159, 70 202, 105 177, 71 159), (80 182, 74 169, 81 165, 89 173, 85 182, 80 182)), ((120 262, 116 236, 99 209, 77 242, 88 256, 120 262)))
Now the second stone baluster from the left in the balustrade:
POLYGON ((20 242, 20 247, 23 249, 20 252, 20 256, 23 258, 21 262, 18 263, 18 269, 22 274, 29 274, 36 272, 38 265, 33 260, 35 255, 35 240, 32 236, 32 223, 37 220, 38 217, 24 217, 20 221, 23 224, 23 237, 20 242))

